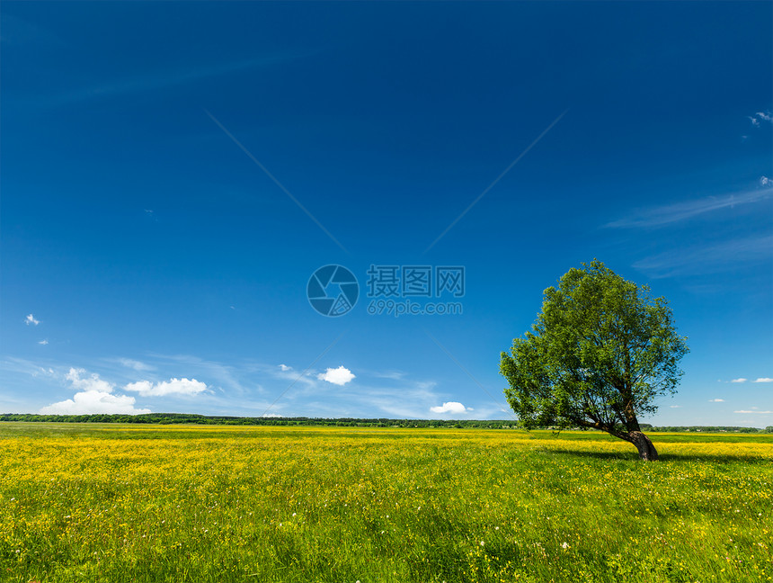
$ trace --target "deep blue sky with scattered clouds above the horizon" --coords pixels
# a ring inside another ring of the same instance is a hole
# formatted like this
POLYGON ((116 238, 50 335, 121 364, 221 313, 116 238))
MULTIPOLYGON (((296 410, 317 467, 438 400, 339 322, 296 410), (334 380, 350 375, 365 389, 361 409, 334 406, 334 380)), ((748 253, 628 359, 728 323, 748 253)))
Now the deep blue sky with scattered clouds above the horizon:
POLYGON ((501 351, 597 257, 689 336, 648 421, 773 425, 771 20, 3 3, 0 411, 508 418, 501 351), (463 313, 369 314, 371 265, 464 266, 463 313))

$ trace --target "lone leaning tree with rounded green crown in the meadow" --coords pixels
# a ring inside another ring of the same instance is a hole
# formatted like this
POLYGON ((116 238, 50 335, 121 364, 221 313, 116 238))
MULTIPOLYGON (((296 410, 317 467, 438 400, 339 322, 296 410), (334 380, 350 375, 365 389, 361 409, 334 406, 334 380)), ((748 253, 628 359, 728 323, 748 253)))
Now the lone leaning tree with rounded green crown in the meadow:
POLYGON ((658 459, 637 416, 676 392, 677 363, 689 352, 664 298, 593 260, 545 291, 532 331, 502 353, 505 395, 527 429, 600 429, 658 459))

